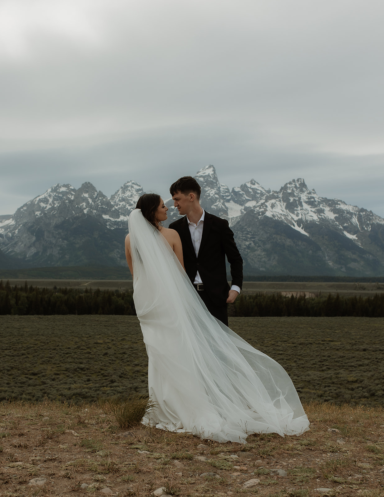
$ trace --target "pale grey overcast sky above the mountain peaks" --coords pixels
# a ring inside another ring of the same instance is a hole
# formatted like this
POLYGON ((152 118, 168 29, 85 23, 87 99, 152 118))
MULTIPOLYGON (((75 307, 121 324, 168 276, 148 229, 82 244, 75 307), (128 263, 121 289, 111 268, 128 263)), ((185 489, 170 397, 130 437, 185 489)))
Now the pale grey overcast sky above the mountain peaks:
POLYGON ((384 217, 383 0, 0 0, 0 214, 303 177, 384 217))

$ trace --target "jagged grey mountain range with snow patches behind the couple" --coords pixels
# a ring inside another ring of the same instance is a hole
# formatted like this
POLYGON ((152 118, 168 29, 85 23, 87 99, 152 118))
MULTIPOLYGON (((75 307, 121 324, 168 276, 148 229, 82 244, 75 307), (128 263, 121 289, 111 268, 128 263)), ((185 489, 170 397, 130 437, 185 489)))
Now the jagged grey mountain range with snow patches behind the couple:
MULTIPOLYGON (((213 166, 194 177, 202 207, 228 219, 245 274, 384 274, 384 219, 372 211, 320 197, 301 178, 279 191, 254 179, 230 191, 213 166)), ((127 220, 142 193, 135 181, 110 198, 88 182, 52 186, 0 218, 0 268, 125 265, 127 220)), ((166 204, 168 225, 179 214, 166 204)))

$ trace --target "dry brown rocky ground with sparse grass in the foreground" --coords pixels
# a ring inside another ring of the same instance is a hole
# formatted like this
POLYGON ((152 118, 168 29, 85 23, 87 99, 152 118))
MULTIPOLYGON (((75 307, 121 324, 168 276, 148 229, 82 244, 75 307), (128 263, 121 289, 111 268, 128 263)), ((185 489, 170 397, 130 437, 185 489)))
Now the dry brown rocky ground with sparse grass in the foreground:
POLYGON ((105 404, 3 403, 0 496, 384 496, 383 409, 304 409, 304 434, 240 445, 123 432, 105 404))

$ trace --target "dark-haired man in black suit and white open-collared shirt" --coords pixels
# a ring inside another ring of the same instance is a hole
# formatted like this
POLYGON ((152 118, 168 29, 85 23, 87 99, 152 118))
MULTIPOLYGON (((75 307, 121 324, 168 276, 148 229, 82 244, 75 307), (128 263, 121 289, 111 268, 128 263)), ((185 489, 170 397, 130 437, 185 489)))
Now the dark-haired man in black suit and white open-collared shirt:
POLYGON ((201 188, 192 176, 171 185, 170 193, 183 218, 169 227, 183 245, 184 266, 208 311, 228 326, 227 304, 235 301, 243 283, 243 259, 228 221, 200 207, 201 188), (231 266, 232 286, 227 282, 225 256, 231 266))

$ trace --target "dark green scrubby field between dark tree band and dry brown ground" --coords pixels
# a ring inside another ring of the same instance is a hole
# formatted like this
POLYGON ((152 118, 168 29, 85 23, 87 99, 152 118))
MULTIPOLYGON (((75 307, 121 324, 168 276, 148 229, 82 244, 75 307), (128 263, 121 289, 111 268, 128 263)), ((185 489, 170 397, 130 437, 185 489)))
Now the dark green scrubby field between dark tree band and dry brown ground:
MULTIPOLYGON (((230 318, 287 370, 303 402, 383 406, 383 318, 230 318)), ((0 316, 0 400, 147 393, 134 316, 0 316)))

